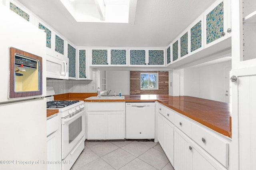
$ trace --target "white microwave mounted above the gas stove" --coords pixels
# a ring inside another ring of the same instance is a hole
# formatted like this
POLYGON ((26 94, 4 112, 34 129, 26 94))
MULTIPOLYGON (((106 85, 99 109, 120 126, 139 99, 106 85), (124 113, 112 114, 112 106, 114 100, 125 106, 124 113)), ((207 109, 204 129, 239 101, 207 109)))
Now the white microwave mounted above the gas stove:
POLYGON ((46 54, 46 78, 68 79, 68 57, 46 54))

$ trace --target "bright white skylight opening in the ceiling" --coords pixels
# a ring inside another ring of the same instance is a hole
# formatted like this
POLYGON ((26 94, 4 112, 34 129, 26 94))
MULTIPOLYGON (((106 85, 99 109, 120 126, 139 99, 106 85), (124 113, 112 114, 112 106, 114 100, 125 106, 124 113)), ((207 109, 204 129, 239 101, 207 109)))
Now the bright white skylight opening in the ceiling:
POLYGON ((77 22, 134 24, 137 0, 60 0, 77 22))

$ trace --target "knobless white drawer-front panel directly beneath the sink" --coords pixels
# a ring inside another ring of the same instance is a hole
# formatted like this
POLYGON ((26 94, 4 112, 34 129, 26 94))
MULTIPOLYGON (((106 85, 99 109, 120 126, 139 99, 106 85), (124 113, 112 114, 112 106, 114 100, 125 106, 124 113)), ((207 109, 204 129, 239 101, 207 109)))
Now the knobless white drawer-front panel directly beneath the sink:
POLYGON ((125 102, 88 102, 87 111, 124 111, 125 102))

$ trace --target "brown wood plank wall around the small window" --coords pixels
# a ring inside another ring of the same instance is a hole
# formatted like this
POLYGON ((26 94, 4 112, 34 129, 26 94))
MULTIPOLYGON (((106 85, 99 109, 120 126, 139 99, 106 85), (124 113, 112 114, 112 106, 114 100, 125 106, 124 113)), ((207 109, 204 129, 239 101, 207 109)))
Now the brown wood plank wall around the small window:
POLYGON ((130 71, 130 95, 168 95, 168 71, 130 71), (158 90, 141 90, 140 73, 158 73, 158 90))

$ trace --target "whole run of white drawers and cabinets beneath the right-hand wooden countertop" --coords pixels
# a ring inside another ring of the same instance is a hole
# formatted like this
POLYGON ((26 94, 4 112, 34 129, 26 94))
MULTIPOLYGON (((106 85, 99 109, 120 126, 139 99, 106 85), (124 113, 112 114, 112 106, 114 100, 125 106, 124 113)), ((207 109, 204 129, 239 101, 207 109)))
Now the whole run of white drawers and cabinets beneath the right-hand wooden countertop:
POLYGON ((158 142, 175 170, 227 170, 229 140, 158 103, 158 142))

